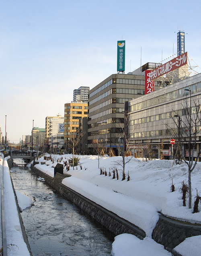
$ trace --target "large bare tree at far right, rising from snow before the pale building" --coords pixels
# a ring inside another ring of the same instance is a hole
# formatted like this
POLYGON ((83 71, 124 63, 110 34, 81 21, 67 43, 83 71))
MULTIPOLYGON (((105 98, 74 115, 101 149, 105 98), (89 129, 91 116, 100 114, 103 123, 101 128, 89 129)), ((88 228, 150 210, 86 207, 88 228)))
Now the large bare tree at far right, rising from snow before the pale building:
POLYGON ((174 115, 172 119, 176 125, 176 130, 173 129, 174 136, 177 137, 179 152, 183 161, 188 165, 188 185, 189 185, 189 209, 192 208, 192 186, 191 186, 191 173, 194 170, 199 155, 201 153, 201 143, 199 142, 199 135, 201 133, 201 106, 199 100, 193 101, 193 107, 190 107, 185 101, 183 105, 183 116, 174 115), (187 145, 188 159, 185 158, 183 147, 187 145), (194 153, 196 152, 196 159, 193 161, 194 153))

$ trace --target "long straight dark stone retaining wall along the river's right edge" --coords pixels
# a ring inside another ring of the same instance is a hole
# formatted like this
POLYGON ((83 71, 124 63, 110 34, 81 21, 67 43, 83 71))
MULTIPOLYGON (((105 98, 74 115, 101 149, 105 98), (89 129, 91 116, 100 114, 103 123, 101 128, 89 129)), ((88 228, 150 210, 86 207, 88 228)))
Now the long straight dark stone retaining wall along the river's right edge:
POLYGON ((109 229, 109 231, 115 235, 129 233, 137 236, 139 239, 146 237, 146 233, 142 229, 139 229, 139 227, 136 227, 135 225, 120 218, 111 211, 108 211, 107 209, 96 204, 95 202, 92 202, 74 190, 64 186, 62 184, 62 180, 66 177, 70 177, 71 175, 62 175, 60 173, 56 173, 55 177, 51 178, 35 168, 33 165, 31 165, 31 170, 40 177, 44 178, 45 181, 53 188, 55 188, 55 190, 57 190, 60 194, 62 194, 62 196, 76 204, 85 213, 90 215, 92 219, 98 221, 101 225, 109 229))

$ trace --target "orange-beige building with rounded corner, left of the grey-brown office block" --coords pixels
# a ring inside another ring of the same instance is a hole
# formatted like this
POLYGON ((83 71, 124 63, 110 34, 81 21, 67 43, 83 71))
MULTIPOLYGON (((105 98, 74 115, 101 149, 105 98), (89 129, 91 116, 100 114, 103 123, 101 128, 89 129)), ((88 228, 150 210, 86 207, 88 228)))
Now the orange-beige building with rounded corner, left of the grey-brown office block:
POLYGON ((64 142, 70 140, 71 136, 76 136, 79 129, 79 120, 87 117, 88 104, 70 102, 64 105, 64 142))

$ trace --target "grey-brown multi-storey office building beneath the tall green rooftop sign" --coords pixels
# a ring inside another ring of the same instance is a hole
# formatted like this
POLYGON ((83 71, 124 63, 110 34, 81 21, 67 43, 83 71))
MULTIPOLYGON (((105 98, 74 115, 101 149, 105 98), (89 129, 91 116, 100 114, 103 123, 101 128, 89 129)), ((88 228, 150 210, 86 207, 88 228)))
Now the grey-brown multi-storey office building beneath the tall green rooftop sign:
MULTIPOLYGON (((117 149, 123 133, 124 102, 144 95, 144 80, 141 70, 112 74, 89 91, 88 151, 94 151, 97 145, 117 149)), ((155 89, 158 88, 156 81, 155 89)))

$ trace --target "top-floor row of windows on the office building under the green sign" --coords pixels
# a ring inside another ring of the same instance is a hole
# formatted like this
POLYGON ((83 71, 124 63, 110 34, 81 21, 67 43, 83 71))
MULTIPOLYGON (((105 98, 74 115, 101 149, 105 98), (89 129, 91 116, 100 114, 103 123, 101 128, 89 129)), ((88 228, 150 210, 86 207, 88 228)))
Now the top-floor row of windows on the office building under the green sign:
MULTIPOLYGON (((107 88, 111 84, 125 84, 125 85, 144 85, 144 80, 138 80, 138 79, 124 79, 124 78, 113 78, 104 85, 98 87, 95 91, 89 94, 89 98, 96 95, 96 93, 99 93, 103 89, 107 88)), ((137 93, 132 93, 137 94, 137 93)))

